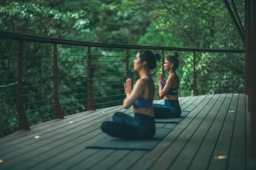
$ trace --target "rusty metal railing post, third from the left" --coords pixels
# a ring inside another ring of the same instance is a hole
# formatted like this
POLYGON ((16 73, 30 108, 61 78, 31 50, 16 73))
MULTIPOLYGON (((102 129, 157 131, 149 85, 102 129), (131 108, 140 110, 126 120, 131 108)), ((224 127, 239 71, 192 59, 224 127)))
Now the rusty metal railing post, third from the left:
POLYGON ((91 94, 91 46, 88 46, 87 53, 87 110, 96 110, 91 94))

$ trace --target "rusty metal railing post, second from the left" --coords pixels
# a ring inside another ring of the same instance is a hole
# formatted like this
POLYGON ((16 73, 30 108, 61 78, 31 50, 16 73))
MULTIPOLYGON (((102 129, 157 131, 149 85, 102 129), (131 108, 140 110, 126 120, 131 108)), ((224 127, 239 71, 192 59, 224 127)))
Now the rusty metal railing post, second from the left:
POLYGON ((58 95, 58 61, 57 44, 53 44, 53 88, 54 88, 54 118, 64 118, 59 104, 58 95))

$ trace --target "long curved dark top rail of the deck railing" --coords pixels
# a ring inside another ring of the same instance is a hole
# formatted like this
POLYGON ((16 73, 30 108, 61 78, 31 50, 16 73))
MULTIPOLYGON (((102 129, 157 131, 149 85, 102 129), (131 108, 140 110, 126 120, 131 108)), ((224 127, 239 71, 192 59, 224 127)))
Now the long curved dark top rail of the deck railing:
POLYGON ((179 48, 168 46, 141 46, 131 44, 112 44, 112 43, 100 43, 100 42, 88 42, 88 41, 75 41, 61 38, 50 38, 43 36, 31 36, 26 34, 14 33, 9 31, 0 31, 0 38, 9 40, 22 40, 30 42, 41 42, 50 44, 72 45, 72 46, 91 46, 91 47, 103 47, 103 48, 128 48, 128 49, 150 49, 150 50, 169 50, 169 51, 181 51, 181 52, 220 52, 220 53, 244 53, 245 50, 228 50, 228 49, 203 49, 203 48, 179 48))

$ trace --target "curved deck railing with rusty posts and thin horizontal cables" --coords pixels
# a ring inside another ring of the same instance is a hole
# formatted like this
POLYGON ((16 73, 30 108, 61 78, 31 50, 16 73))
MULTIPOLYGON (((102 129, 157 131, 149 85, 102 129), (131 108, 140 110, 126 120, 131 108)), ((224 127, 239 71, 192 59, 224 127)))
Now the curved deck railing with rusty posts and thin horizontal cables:
POLYGON ((180 52, 180 96, 244 90, 244 50, 108 44, 6 31, 0 31, 0 39, 1 137, 53 118, 122 104, 123 82, 139 78, 133 70, 139 49, 162 55, 151 72, 156 87, 156 76, 165 74, 164 58, 180 52), (237 62, 230 63, 229 57, 237 62), (234 74, 237 66, 239 75, 234 74), (229 89, 234 84, 237 88, 229 89))

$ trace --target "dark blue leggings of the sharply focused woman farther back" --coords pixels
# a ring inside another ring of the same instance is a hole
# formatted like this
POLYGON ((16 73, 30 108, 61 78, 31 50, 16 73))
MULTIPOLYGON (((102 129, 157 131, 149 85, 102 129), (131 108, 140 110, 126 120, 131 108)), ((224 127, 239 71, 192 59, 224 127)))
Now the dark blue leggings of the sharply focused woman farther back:
POLYGON ((178 100, 165 100, 165 105, 154 104, 155 118, 178 118, 181 116, 181 107, 178 100))

